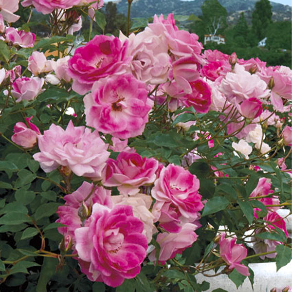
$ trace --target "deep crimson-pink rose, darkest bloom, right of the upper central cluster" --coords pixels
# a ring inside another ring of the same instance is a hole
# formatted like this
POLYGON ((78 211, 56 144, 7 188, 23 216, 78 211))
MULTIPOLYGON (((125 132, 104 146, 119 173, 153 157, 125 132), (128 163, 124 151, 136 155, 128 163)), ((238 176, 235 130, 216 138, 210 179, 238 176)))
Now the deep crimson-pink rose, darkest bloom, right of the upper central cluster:
POLYGON ((184 96, 183 103, 197 112, 208 112, 211 105, 211 87, 202 79, 190 82, 192 93, 184 96))

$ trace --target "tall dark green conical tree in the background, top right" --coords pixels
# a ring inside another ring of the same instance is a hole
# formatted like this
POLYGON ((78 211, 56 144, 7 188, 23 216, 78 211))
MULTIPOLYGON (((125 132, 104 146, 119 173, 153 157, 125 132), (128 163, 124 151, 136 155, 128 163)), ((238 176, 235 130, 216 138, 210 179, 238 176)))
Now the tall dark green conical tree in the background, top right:
POLYGON ((258 40, 265 37, 267 27, 272 23, 272 5, 269 0, 256 2, 252 15, 252 29, 258 40))

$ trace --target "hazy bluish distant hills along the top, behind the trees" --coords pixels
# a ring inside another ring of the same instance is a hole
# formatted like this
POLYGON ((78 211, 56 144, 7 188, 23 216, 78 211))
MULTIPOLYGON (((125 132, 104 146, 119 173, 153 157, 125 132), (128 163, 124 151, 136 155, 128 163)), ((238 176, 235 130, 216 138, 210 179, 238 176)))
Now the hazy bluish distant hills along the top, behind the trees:
MULTIPOLYGON (((252 11, 257 0, 219 0, 229 14, 228 21, 233 23, 239 17, 240 12, 245 12, 247 20, 251 19, 252 11)), ((117 3, 118 12, 127 15, 128 0, 114 1, 117 3)), ((181 1, 181 0, 134 0, 131 5, 131 18, 153 17, 161 13, 167 15, 201 15, 201 5, 204 0, 181 1)), ((273 20, 291 20, 291 6, 271 2, 273 20)))

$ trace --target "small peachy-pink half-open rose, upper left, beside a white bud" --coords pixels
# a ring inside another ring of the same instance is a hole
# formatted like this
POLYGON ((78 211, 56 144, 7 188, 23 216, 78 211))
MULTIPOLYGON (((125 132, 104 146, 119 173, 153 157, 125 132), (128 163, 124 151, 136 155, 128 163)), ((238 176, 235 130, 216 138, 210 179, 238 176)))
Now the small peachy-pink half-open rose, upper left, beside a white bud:
POLYGON ((37 76, 40 73, 47 73, 53 70, 52 64, 53 60, 47 60, 44 53, 33 52, 33 54, 28 58, 27 69, 37 76))

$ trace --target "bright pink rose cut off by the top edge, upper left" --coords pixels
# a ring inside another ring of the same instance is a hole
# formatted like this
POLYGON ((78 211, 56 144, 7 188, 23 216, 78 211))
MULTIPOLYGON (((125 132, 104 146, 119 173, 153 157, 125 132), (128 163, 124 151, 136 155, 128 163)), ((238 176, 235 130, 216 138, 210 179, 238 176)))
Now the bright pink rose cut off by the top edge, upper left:
POLYGON ((21 2, 23 7, 34 5, 37 12, 49 14, 54 9, 68 9, 77 5, 80 0, 24 0, 21 2))

